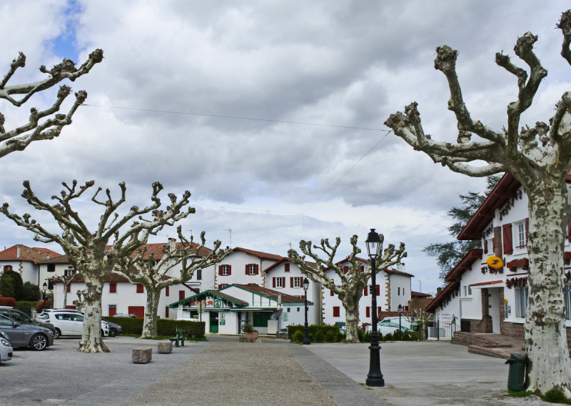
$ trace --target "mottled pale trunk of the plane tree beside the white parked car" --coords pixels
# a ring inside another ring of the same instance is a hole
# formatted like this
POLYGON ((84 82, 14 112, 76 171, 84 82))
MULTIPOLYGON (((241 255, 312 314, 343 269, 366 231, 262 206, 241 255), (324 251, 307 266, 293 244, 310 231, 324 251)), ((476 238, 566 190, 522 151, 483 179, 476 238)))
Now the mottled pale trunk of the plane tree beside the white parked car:
MULTIPOLYGON (((101 337, 101 293, 103 282, 84 274, 84 332, 79 342, 81 352, 109 352, 101 337)), ((103 279, 103 278, 101 278, 103 279)))

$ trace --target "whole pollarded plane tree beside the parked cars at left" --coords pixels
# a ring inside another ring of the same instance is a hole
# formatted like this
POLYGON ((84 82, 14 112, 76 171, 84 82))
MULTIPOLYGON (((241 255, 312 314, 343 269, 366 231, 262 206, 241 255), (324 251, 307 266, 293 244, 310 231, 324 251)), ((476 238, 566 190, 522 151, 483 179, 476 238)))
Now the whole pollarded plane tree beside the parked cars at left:
POLYGON ((149 235, 155 235, 165 225, 173 226, 188 214, 194 213, 195 210, 189 207, 187 211, 181 211, 188 204, 191 196, 188 191, 184 192, 180 200, 177 200, 176 195, 168 194, 171 204, 166 207, 166 211, 160 210, 161 199, 158 193, 161 192, 163 186, 159 182, 154 182, 152 204, 142 209, 133 206, 123 217, 120 217, 117 210, 126 201, 126 186, 124 182, 121 182, 119 184, 121 198, 116 202, 113 201, 109 189, 106 189, 107 200, 99 201, 97 195, 101 192, 101 187, 91 197, 91 202, 103 206, 104 209, 95 232, 91 232, 78 212, 72 209, 71 202, 79 199, 94 186, 94 183, 94 181, 86 182, 84 186, 77 187, 77 182, 74 180, 70 187, 64 182, 65 189, 61 191, 61 197, 52 196, 51 198, 57 203, 51 206, 41 201, 32 192, 29 181, 24 181, 25 189, 22 197, 35 209, 51 214, 63 230, 61 235, 48 231, 36 220, 31 219, 30 214, 19 216, 10 213, 7 203, 3 204, 1 212, 20 227, 34 232, 36 241, 56 242, 64 249, 69 262, 84 277, 86 283, 86 289, 78 292, 82 310, 85 312, 79 351, 108 352, 108 347, 101 340, 101 293, 104 280, 113 272, 118 259, 129 257, 138 247, 146 244, 149 235), (151 219, 143 219, 145 214, 150 214, 151 219), (134 219, 133 224, 128 225, 132 219, 134 219), (109 244, 111 239, 113 240, 109 244))

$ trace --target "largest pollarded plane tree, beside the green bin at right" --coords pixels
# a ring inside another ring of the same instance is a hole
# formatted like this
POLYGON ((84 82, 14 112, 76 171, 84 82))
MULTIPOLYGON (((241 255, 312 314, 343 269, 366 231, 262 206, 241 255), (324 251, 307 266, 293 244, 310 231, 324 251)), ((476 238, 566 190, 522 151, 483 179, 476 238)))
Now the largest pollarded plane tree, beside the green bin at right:
MULTIPOLYGON (((557 24, 563 32, 562 56, 571 64, 571 10, 557 24)), ((458 51, 449 46, 436 49, 435 69, 448 79, 448 109, 458 122, 458 142, 437 142, 425 134, 417 103, 405 113, 391 114, 385 124, 415 150, 425 152, 436 163, 470 177, 487 177, 510 172, 529 199, 530 287, 525 317, 527 388, 546 392, 559 387, 571 394, 571 360, 565 333, 563 287, 563 245, 565 225, 571 214, 571 200, 565 177, 571 167, 571 92, 555 105, 555 114, 534 127, 521 127, 520 117, 532 105, 547 70, 533 51, 537 36, 530 32, 517 39, 515 54, 527 64, 529 73, 516 66, 510 57, 495 55, 495 63, 517 79, 517 100, 507 106, 507 128, 486 127, 468 112, 456 74, 458 51), (475 134, 480 137, 472 141, 475 134), (477 166, 475 161, 487 164, 477 166), (470 164, 472 163, 472 164, 470 164)))

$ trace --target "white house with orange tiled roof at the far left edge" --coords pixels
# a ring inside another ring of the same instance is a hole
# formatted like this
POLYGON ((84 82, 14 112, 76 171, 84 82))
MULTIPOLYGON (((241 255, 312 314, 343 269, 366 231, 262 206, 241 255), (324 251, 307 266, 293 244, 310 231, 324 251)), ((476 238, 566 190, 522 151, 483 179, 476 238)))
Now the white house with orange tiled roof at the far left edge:
POLYGON ((16 244, 0 251, 0 275, 5 270, 19 272, 24 283, 31 282, 41 287, 44 280, 39 275, 39 263, 61 254, 47 248, 31 248, 16 244))

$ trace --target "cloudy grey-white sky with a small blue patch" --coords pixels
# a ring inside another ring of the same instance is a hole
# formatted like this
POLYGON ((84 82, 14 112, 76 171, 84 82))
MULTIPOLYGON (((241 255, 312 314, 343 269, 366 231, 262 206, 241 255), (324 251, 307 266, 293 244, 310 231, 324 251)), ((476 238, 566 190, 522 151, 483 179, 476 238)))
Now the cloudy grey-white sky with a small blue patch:
MULTIPOLYGON (((81 64, 96 48, 105 59, 71 83, 91 105, 80 107, 74 124, 58 139, 1 159, 0 199, 55 231, 20 197, 24 179, 44 199, 63 181, 93 179, 116 195, 124 181, 127 207, 148 204, 151 183, 160 181, 165 198, 192 193, 196 214, 183 222, 186 234, 205 230, 209 241, 227 245, 231 229, 233 247, 281 255, 300 239, 339 236, 341 259, 351 235, 363 241, 375 227, 386 242, 407 244, 413 289, 420 280, 423 292, 434 291, 438 267, 421 249, 448 241, 447 209, 485 182, 433 164, 383 122, 418 101, 425 131, 455 140, 448 86, 433 68, 435 47, 448 44, 460 51, 473 117, 502 127, 517 86, 494 56, 503 50, 523 67, 512 48, 526 31, 539 35, 535 48, 549 75, 522 123, 547 122, 570 88, 555 29, 568 7, 527 0, 4 2, 0 74, 19 51, 27 56, 10 84, 42 79, 37 68, 64 57, 81 64)), ((1 101, 6 128, 24 124, 30 107, 51 105, 55 91, 21 108, 1 101)), ((77 207, 94 227, 99 207, 89 199, 77 207)), ((0 249, 41 245, 6 218, 0 230, 0 249)), ((175 231, 153 242, 167 235, 175 231)))

